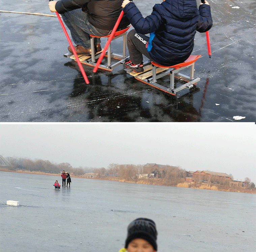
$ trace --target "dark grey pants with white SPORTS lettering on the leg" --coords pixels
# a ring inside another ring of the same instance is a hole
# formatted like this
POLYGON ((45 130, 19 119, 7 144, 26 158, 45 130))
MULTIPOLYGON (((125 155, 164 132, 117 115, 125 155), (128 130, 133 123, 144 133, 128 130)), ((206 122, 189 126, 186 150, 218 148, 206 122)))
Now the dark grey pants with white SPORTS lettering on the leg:
POLYGON ((127 47, 133 64, 140 64, 143 61, 143 55, 152 61, 146 48, 148 41, 148 36, 137 33, 135 30, 131 30, 127 34, 127 47))

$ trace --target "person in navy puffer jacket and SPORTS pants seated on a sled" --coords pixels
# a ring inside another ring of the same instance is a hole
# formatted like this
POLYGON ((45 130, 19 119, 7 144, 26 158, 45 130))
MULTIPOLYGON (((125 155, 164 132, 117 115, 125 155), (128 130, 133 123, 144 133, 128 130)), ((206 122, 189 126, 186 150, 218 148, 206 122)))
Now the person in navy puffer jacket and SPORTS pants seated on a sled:
POLYGON ((130 60, 125 64, 135 72, 143 72, 142 54, 165 66, 183 62, 193 50, 196 31, 206 32, 212 26, 207 1, 198 10, 196 0, 164 0, 145 18, 129 0, 122 7, 135 28, 127 35, 130 60))

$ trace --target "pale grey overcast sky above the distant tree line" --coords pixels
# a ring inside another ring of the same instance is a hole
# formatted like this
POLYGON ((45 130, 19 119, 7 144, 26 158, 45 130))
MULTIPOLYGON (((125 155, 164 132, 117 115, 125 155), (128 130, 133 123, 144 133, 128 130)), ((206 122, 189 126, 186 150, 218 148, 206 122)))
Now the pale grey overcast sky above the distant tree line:
POLYGON ((1 124, 0 137, 3 157, 67 162, 74 168, 169 164, 256 183, 253 124, 1 124))

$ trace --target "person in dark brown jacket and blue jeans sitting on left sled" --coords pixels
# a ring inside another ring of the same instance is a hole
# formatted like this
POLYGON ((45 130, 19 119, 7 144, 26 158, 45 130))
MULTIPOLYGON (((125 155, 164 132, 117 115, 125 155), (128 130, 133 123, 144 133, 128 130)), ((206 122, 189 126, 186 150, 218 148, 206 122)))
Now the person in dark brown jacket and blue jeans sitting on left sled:
MULTIPOLYGON (((90 35, 109 35, 121 12, 123 0, 60 0, 50 1, 51 12, 61 14, 63 21, 70 30, 73 41, 79 54, 90 55, 90 35)), ((130 24, 123 16, 117 29, 125 28, 130 24)), ((101 40, 94 39, 95 51, 101 51, 101 40)), ((70 46, 68 50, 72 52, 70 46)))

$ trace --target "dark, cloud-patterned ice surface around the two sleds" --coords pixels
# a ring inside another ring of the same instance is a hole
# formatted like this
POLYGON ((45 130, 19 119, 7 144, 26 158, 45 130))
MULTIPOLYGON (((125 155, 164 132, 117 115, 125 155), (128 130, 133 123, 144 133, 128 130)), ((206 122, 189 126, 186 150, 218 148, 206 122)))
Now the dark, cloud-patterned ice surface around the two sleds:
MULTIPOLYGON (((156 3, 134 2, 143 16, 156 3)), ((84 66, 86 85, 74 60, 63 57, 68 42, 57 18, 0 13, 0 121, 239 123, 233 116, 244 115, 243 122, 255 122, 255 1, 209 3, 211 59, 205 34, 197 33, 192 54, 202 55, 195 64, 201 81, 180 98, 135 80, 123 66, 96 74, 84 66)), ((38 0, 5 1, 1 9, 52 14, 48 1, 38 0)), ((112 48, 121 53, 121 39, 112 48)))

